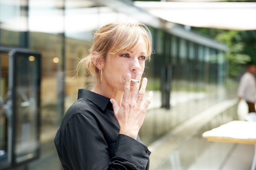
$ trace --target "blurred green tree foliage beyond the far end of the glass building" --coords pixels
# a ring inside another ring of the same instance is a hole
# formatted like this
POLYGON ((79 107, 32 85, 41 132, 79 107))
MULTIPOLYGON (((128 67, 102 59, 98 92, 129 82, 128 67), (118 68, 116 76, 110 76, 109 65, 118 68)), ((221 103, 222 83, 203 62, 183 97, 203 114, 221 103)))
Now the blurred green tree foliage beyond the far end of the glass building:
POLYGON ((200 34, 228 45, 229 77, 238 76, 245 64, 256 64, 256 31, 220 30, 192 27, 200 34))

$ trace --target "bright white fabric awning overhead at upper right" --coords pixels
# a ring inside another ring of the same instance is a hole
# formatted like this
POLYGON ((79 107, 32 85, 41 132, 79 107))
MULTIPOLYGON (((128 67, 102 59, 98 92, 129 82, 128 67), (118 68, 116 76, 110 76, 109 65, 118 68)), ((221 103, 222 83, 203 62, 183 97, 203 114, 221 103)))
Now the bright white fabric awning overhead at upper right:
POLYGON ((256 30, 256 2, 135 1, 152 15, 182 25, 227 30, 256 30))

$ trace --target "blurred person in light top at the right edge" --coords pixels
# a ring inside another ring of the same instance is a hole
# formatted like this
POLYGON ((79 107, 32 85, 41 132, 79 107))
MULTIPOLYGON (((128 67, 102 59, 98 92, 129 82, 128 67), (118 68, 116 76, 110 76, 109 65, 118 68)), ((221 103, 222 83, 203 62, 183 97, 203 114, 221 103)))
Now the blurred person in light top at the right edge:
POLYGON ((244 99, 249 107, 249 113, 255 111, 255 92, 256 92, 256 66, 249 64, 246 73, 241 77, 238 87, 239 101, 244 99))

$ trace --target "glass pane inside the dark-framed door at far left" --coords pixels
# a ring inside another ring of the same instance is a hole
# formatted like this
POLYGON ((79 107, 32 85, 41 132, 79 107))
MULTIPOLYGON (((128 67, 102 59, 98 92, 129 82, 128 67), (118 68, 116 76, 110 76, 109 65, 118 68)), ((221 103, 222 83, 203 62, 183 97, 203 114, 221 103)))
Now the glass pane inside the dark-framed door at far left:
POLYGON ((40 56, 17 53, 14 62, 15 163, 38 157, 40 56))

